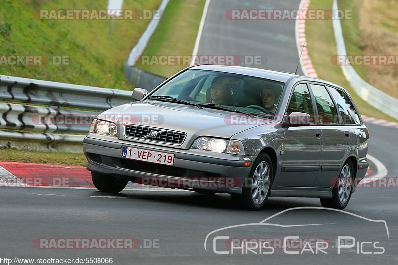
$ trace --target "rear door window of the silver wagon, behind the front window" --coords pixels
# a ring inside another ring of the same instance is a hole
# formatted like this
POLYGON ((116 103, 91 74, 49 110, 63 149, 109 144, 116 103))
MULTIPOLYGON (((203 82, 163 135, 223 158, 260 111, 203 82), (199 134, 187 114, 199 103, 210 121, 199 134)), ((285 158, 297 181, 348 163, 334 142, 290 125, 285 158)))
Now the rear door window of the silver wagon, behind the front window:
POLYGON ((333 100, 323 85, 311 84, 314 93, 316 109, 318 110, 317 123, 336 124, 339 123, 336 107, 333 100))

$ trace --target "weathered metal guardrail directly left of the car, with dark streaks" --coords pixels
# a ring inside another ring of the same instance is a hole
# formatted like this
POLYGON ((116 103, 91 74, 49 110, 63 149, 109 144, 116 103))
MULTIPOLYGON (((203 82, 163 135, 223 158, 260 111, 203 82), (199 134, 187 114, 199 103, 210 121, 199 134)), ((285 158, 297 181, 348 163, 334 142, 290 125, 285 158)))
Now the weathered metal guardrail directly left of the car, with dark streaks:
POLYGON ((0 139, 81 143, 84 135, 70 133, 86 134, 100 112, 133 101, 131 93, 0 75, 0 139))

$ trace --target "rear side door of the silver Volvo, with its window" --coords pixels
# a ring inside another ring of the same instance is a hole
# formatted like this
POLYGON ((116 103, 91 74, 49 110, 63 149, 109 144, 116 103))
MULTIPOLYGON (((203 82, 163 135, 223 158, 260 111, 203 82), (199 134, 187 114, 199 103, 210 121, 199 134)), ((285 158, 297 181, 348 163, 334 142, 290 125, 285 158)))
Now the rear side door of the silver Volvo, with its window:
POLYGON ((349 128, 344 126, 341 115, 337 112, 336 103, 320 83, 311 83, 316 109, 316 122, 322 130, 322 155, 320 171, 314 187, 329 188, 334 185, 341 167, 350 151, 349 128))

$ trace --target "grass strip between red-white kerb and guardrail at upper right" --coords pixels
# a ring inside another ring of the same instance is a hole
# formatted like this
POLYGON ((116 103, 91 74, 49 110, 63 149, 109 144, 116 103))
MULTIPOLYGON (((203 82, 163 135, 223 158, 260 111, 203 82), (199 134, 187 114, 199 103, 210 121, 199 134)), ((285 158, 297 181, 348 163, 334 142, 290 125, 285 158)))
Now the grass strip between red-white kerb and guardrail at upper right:
MULTIPOLYGON (((333 0, 311 0, 309 9, 330 10, 332 3, 333 0)), ((341 67, 331 63, 330 58, 337 54, 331 20, 307 20, 306 35, 309 55, 319 78, 331 81, 347 89, 361 114, 397 121, 362 100, 344 77, 341 67)))

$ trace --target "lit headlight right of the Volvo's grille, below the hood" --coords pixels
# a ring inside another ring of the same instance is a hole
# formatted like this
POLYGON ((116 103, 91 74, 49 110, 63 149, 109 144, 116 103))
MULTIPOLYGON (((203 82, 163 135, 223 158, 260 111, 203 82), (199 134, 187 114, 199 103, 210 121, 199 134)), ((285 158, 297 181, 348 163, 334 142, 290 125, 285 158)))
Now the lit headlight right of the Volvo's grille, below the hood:
POLYGON ((228 141, 223 139, 200 137, 195 140, 192 147, 195 149, 219 153, 223 153, 226 150, 226 153, 229 154, 245 154, 243 143, 237 140, 228 141))

